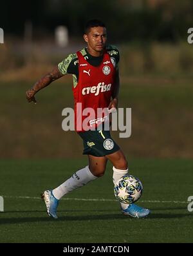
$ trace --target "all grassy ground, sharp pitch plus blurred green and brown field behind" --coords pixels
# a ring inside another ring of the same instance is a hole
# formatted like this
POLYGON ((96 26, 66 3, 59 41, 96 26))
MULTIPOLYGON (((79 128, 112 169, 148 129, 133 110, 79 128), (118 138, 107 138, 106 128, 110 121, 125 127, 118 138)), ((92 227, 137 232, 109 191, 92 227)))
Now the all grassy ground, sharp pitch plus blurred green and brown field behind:
POLYGON ((47 217, 40 194, 87 165, 87 159, 81 158, 77 134, 61 127, 62 109, 73 107, 71 80, 62 78, 39 92, 37 105, 25 99, 33 80, 0 83, 0 195, 5 200, 0 242, 193 242, 193 212, 187 210, 193 195, 192 80, 122 82, 119 106, 132 108, 132 135, 123 140, 115 132, 113 138, 130 173, 142 180, 138 204, 151 215, 133 219, 120 213, 109 164, 105 176, 60 201, 58 220, 47 217))

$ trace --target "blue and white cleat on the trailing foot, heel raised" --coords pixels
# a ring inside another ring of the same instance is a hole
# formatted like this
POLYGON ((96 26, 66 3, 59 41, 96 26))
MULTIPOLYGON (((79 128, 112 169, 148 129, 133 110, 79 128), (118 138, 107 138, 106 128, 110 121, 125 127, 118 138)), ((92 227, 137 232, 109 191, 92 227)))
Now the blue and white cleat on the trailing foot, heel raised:
POLYGON ((57 217, 57 207, 59 205, 59 200, 53 196, 52 190, 46 190, 41 195, 47 208, 47 213, 50 217, 58 219, 57 217))

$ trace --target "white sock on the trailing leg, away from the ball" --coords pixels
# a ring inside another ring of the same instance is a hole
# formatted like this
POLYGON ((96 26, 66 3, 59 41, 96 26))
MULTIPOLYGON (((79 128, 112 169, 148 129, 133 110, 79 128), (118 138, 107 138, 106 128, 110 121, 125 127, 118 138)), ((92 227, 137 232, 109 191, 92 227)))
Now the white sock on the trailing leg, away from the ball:
POLYGON ((55 198, 60 199, 70 191, 82 187, 96 178, 98 177, 94 176, 89 170, 89 167, 86 166, 74 173, 73 176, 68 178, 68 180, 62 183, 59 187, 53 189, 52 193, 55 198))

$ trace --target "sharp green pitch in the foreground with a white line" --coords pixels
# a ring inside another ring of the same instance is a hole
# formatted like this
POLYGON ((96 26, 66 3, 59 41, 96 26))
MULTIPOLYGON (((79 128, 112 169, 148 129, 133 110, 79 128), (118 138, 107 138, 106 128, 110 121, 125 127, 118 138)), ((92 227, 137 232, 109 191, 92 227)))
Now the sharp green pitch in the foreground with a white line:
POLYGON ((60 200, 59 219, 46 215, 39 198, 87 164, 66 160, 1 160, 0 242, 193 242, 193 160, 133 159, 130 173, 142 180, 138 201, 151 209, 146 219, 120 213, 113 195, 111 165, 106 175, 60 200))

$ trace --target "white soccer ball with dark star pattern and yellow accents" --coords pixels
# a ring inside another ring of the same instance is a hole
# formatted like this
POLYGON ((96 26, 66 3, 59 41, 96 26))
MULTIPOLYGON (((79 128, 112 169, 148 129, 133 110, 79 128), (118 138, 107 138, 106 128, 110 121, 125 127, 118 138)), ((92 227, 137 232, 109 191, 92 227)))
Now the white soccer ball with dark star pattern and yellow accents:
POLYGON ((142 195, 142 182, 132 175, 122 176, 114 186, 115 197, 124 204, 136 202, 142 195))

